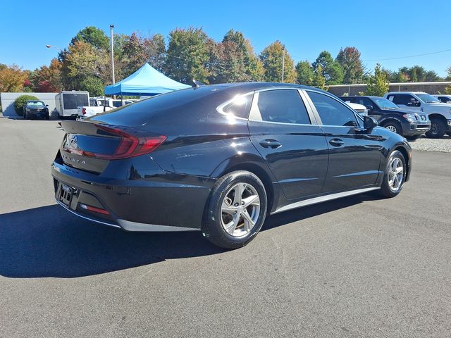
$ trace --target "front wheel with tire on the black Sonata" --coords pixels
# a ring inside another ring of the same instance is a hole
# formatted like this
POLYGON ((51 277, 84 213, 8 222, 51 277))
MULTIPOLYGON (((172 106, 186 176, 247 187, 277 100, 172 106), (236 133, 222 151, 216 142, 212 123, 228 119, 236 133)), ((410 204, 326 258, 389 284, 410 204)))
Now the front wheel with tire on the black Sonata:
POLYGON ((400 151, 393 151, 385 165, 385 174, 381 185, 381 195, 386 198, 397 196, 405 182, 406 161, 400 151))

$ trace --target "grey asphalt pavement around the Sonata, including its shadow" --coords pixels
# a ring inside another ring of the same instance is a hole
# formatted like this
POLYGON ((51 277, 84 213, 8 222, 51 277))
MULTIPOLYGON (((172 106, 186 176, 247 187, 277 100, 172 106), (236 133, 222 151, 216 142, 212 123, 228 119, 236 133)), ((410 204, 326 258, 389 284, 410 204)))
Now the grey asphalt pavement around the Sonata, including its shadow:
POLYGON ((56 206, 62 137, 0 118, 0 337, 451 336, 450 153, 414 151, 395 199, 273 215, 224 251, 56 206))

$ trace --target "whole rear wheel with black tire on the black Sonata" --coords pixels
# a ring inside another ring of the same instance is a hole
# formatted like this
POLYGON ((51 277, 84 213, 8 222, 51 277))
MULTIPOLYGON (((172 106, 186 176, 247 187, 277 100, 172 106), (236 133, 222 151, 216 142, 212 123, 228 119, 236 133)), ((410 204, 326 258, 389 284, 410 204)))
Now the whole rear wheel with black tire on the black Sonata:
POLYGON ((266 191, 259 177, 244 170, 228 173, 212 189, 202 234, 222 248, 245 246, 260 231, 267 207, 266 191))

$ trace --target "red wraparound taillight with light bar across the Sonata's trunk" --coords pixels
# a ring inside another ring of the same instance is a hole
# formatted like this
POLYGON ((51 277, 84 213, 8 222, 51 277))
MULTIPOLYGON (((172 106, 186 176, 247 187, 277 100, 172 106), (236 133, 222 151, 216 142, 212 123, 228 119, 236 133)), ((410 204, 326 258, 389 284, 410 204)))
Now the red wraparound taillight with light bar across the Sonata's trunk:
POLYGON ((71 154, 77 154, 80 156, 101 158, 105 160, 118 160, 121 158, 129 158, 143 154, 149 154, 156 148, 158 148, 163 142, 165 142, 167 138, 164 135, 136 137, 135 135, 128 134, 123 130, 118 130, 112 127, 106 127, 104 125, 96 125, 96 127, 100 130, 104 130, 108 134, 114 134, 115 136, 120 138, 120 142, 113 154, 101 154, 92 151, 85 151, 82 149, 68 148, 66 146, 63 146, 63 150, 68 151, 71 154))

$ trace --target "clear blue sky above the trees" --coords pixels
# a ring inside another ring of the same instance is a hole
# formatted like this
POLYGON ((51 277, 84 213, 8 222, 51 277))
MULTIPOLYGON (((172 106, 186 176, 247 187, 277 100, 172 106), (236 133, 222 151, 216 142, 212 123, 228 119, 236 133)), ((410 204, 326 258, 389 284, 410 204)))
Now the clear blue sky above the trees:
MULTIPOLYGON (((373 68, 423 65, 445 76, 451 65, 449 1, 11 1, 0 5, 0 63, 47 65, 83 27, 166 37, 174 27, 202 27, 216 40, 233 28, 259 53, 279 39, 295 59, 314 61, 327 50, 356 46, 373 68), (385 58, 400 58, 383 60, 385 58)), ((166 41, 167 42, 167 41, 166 41)))

